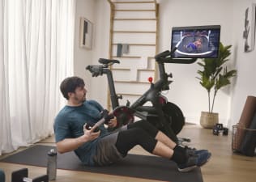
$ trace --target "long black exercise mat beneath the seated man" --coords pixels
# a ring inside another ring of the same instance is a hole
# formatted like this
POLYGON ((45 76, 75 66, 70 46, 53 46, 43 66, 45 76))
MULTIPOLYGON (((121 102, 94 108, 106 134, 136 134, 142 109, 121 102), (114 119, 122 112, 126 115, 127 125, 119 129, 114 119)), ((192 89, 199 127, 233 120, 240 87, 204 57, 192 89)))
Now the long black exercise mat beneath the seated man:
MULTIPOLYGON (((46 167, 47 152, 53 146, 32 146, 19 153, 12 154, 2 163, 19 163, 37 167, 46 167)), ((173 182, 202 182, 199 167, 193 171, 181 173, 172 161, 156 156, 128 154, 125 159, 108 167, 86 167, 79 161, 74 152, 58 154, 58 169, 103 173, 114 176, 130 176, 149 180, 173 182)))

